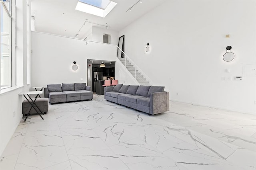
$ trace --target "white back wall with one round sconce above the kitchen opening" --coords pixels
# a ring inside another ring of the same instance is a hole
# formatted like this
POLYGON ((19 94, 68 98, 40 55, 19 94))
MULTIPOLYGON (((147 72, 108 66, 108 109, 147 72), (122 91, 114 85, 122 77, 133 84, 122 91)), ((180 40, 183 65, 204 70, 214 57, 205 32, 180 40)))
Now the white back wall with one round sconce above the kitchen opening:
POLYGON ((115 61, 117 51, 115 45, 38 32, 31 33, 31 49, 31 86, 87 82, 87 59, 115 61))

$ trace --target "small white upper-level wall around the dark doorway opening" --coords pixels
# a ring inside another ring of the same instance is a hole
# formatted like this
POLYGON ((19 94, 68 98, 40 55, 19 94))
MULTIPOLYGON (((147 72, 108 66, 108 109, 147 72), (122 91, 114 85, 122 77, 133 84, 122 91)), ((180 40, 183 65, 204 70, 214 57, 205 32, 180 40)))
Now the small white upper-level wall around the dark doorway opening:
POLYGON ((103 33, 111 35, 111 44, 118 45, 118 31, 92 26, 92 41, 103 43, 103 33))

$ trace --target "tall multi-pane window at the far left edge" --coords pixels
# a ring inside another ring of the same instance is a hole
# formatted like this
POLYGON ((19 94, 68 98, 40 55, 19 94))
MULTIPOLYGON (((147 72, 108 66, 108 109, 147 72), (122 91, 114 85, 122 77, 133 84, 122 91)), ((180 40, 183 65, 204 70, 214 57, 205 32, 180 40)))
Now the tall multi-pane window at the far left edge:
POLYGON ((11 2, 0 3, 0 87, 11 87, 12 53, 11 53, 11 2))

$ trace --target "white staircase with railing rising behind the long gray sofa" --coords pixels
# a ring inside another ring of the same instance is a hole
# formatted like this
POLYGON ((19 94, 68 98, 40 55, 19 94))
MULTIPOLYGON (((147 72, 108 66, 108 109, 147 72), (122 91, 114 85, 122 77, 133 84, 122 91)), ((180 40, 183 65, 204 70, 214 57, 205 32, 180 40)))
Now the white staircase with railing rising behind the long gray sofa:
POLYGON ((132 65, 131 62, 129 62, 127 58, 126 62, 125 58, 118 57, 118 59, 122 62, 122 64, 124 64, 127 70, 132 74, 132 76, 134 76, 140 85, 151 86, 151 83, 146 78, 144 78, 144 76, 138 71, 138 69, 136 69, 136 67, 132 65))

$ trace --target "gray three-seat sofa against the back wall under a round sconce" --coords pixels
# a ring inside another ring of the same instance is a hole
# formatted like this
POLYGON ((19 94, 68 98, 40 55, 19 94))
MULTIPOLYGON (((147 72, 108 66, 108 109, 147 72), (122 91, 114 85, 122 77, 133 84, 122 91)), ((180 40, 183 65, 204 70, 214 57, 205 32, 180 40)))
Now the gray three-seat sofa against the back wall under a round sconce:
POLYGON ((53 104, 92 100, 93 93, 90 91, 90 86, 86 86, 86 83, 48 84, 47 88, 44 88, 44 97, 49 98, 49 102, 53 104))

